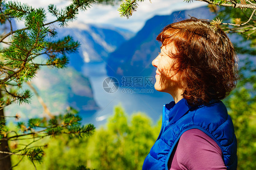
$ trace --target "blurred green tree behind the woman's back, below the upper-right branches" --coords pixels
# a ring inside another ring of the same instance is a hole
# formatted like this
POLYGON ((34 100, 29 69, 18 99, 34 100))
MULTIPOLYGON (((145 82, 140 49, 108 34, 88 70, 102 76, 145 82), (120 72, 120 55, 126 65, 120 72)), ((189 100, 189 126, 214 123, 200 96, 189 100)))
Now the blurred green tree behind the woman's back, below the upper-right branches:
POLYGON ((252 60, 241 60, 240 80, 225 99, 237 137, 238 170, 256 167, 256 66, 252 60))

